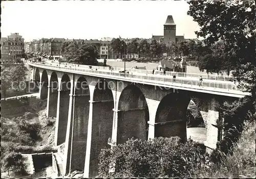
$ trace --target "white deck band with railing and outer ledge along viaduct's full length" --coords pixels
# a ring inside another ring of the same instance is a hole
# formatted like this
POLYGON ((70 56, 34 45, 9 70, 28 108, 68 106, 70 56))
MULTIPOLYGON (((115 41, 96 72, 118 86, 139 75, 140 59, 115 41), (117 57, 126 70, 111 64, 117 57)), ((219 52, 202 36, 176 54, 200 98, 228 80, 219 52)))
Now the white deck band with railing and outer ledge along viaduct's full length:
MULTIPOLYGON (((215 80, 212 81, 199 81, 199 80, 193 80, 192 78, 176 78, 173 79, 172 77, 168 76, 156 76, 153 74, 124 74, 124 73, 118 73, 118 72, 111 72, 111 71, 100 71, 95 69, 84 69, 82 67, 77 66, 70 66, 70 67, 62 67, 62 66, 55 66, 55 65, 48 65, 48 64, 38 64, 33 62, 28 62, 29 65, 36 66, 38 68, 44 68, 44 69, 53 69, 58 71, 68 71, 71 73, 87 73, 92 75, 100 75, 105 77, 118 77, 122 80, 134 80, 136 81, 142 81, 142 82, 150 82, 155 84, 163 84, 163 85, 176 85, 180 87, 189 87, 193 86, 194 89, 204 89, 208 91, 215 91, 220 92, 219 89, 223 89, 224 91, 232 91, 231 93, 237 94, 237 95, 249 95, 247 93, 242 92, 240 89, 237 88, 236 84, 230 84, 230 81, 228 82, 216 82, 215 80)), ((222 92, 224 92, 222 91, 222 92)))

